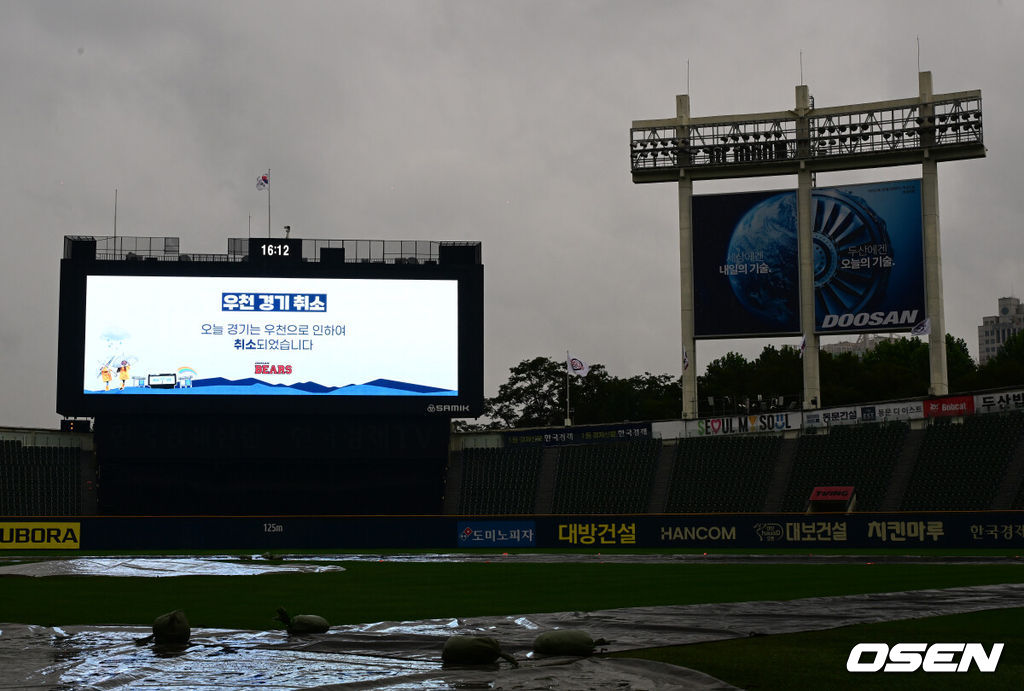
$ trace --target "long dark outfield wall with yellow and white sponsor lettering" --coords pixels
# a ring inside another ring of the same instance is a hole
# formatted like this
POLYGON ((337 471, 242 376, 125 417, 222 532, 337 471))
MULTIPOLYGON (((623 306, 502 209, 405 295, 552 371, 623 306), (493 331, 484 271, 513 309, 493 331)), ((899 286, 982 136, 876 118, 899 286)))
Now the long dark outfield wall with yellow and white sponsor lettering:
POLYGON ((1024 547, 1024 512, 83 517, 0 521, 5 551, 918 550, 1024 547))

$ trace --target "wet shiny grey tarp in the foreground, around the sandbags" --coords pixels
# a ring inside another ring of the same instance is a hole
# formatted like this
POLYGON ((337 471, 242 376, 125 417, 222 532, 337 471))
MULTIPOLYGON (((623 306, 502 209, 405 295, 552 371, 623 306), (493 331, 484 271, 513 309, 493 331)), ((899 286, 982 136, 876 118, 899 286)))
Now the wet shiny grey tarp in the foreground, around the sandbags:
POLYGON ((552 629, 585 630, 609 641, 602 650, 622 651, 1016 607, 1022 596, 1024 584, 1015 584, 792 601, 382 621, 301 637, 282 631, 201 629, 193 630, 191 642, 183 647, 136 645, 136 639, 151 633, 142 627, 0 623, 4 671, 0 688, 729 689, 700 673, 656 662, 542 658, 530 648, 540 633, 552 629), (442 666, 441 648, 456 634, 494 637, 519 666, 507 662, 442 666))

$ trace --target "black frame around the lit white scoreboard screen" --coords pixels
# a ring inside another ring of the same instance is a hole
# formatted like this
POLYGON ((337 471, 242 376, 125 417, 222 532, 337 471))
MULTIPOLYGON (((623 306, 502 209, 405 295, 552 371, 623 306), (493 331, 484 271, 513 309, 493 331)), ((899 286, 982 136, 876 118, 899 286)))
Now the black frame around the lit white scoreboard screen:
MULTIPOLYGON (((279 241, 280 242, 280 241, 279 241)), ((290 244, 296 243, 295 239, 290 244)), ((132 415, 317 415, 475 418, 483 413, 483 266, 480 263, 335 263, 314 261, 60 261, 56 412, 66 417, 132 415), (458 282, 457 396, 90 396, 85 366, 86 278, 89 275, 369 278, 458 282)))

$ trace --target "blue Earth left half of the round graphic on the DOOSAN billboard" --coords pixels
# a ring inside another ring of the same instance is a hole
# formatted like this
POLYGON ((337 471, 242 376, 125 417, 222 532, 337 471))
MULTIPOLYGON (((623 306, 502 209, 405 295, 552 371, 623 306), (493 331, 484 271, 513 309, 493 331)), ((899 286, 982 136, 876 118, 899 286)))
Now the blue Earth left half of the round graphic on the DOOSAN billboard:
POLYGON ((748 211, 732 231, 726 256, 729 264, 761 268, 729 276, 743 308, 772 329, 797 330, 797 196, 776 195, 748 211))

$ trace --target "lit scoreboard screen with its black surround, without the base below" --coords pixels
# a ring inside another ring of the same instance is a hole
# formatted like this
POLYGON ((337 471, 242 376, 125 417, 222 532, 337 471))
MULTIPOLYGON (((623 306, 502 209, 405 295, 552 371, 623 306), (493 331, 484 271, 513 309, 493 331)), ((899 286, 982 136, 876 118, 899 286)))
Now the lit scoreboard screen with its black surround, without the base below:
POLYGON ((248 268, 66 260, 57 412, 479 415, 481 266, 248 268))

